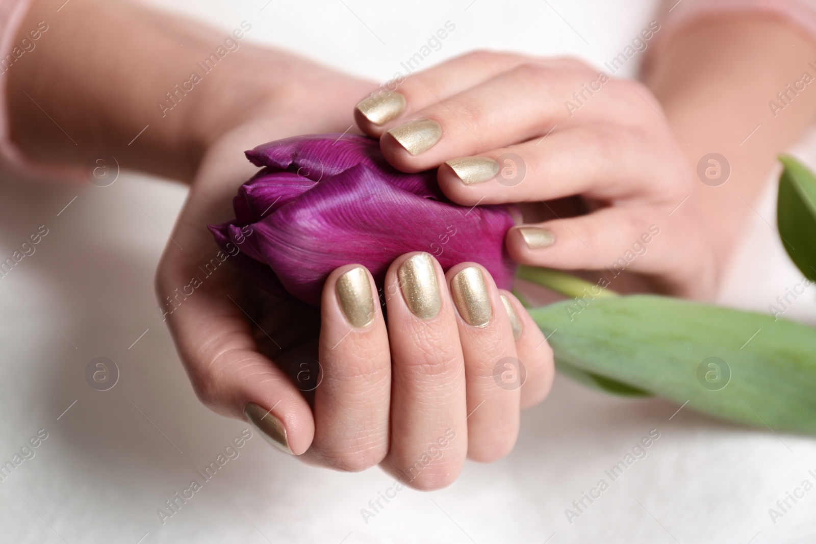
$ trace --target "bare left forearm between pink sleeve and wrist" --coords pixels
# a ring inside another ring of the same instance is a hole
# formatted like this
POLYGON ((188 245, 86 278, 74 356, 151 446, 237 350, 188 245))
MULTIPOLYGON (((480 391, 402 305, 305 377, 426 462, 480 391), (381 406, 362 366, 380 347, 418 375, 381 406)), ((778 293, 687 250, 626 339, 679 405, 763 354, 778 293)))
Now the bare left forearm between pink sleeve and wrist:
POLYGON ((73 0, 57 13, 63 2, 33 4, 16 42, 39 21, 48 30, 8 74, 11 136, 35 161, 113 155, 122 166, 188 181, 214 139, 286 107, 295 79, 340 77, 251 46, 251 22, 233 35, 148 4, 73 0), (219 47, 223 56, 213 60, 219 47))

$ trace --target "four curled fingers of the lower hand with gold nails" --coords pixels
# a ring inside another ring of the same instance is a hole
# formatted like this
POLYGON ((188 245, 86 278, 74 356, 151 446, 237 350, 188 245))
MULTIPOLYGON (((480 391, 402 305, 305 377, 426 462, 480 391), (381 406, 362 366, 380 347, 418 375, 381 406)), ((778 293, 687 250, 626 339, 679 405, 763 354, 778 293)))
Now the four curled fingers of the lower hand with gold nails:
POLYGON ((466 457, 509 453, 520 409, 543 400, 553 373, 552 352, 517 299, 480 265, 444 273, 428 253, 388 268, 388 329, 379 299, 359 265, 326 281, 323 375, 304 458, 352 471, 381 463, 412 487, 437 489, 466 457))

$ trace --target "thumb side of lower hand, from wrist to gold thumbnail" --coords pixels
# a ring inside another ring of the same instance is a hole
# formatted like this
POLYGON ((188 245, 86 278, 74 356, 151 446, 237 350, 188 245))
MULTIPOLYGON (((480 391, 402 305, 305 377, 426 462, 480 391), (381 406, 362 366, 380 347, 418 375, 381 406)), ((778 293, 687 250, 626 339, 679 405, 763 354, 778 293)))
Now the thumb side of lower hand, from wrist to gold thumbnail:
MULTIPOLYGON (((201 263, 223 254, 206 224, 233 217, 230 202, 237 187, 257 170, 242 160, 240 151, 263 135, 261 128, 231 133, 206 154, 172 243, 162 254, 156 288, 162 303, 175 301, 165 306, 166 320, 202 402, 219 414, 251 422, 270 442, 299 455, 312 443, 312 409, 288 375, 259 352, 259 339, 277 352, 283 351, 279 346, 288 349, 295 343, 267 334, 273 329, 255 315, 250 302, 257 300, 246 294, 246 279, 230 263, 224 261, 208 276, 199 270, 201 263), (192 295, 180 295, 191 278, 201 285, 192 295)), ((296 325, 303 312, 303 305, 281 303, 271 316, 296 325)), ((290 332, 299 328, 292 326, 290 332)), ((295 334, 290 338, 297 339, 295 334)), ((276 362, 286 362, 285 355, 276 353, 276 362)))

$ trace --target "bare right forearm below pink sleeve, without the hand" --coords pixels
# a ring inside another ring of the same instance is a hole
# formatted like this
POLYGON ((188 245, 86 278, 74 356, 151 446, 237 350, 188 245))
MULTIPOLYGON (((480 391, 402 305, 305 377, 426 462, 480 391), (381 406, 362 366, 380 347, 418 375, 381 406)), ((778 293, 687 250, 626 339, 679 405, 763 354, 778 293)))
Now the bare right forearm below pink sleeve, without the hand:
POLYGON ((677 34, 645 74, 691 166, 707 153, 721 153, 730 163, 725 184, 700 182, 691 195, 721 266, 755 213, 751 206, 776 156, 816 119, 816 83, 775 115, 769 107, 771 100, 783 104, 777 93, 803 73, 816 77, 808 64, 816 64, 812 38, 785 21, 774 24, 759 14, 708 20, 677 34))

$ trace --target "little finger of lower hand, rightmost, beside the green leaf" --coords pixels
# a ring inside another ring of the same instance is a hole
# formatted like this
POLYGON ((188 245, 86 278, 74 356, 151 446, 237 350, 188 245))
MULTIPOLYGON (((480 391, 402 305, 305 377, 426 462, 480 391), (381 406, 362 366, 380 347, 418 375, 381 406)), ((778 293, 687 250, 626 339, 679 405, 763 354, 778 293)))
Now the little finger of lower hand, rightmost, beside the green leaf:
POLYGON ((521 360, 521 368, 505 366, 502 381, 508 386, 521 387, 521 409, 530 408, 544 400, 552 387, 555 375, 552 347, 516 296, 505 290, 499 290, 499 294, 508 312, 521 360))

